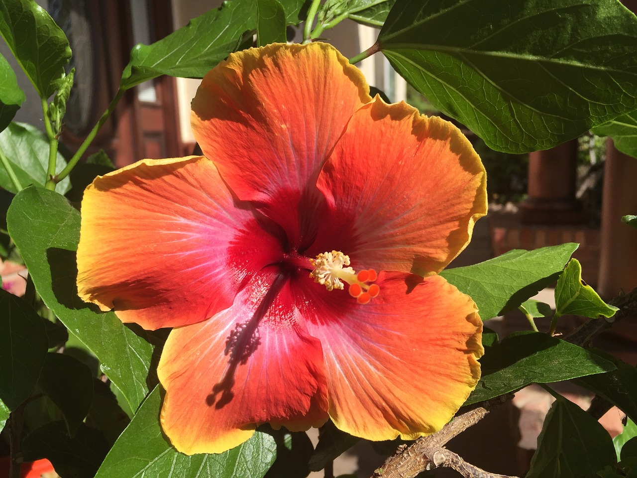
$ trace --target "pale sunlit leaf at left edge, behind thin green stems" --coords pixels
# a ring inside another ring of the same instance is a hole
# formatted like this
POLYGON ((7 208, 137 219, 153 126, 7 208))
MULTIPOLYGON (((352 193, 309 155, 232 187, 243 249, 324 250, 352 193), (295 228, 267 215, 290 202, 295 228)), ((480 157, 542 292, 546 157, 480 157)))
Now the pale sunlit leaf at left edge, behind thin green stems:
MULTIPOLYGON (((20 184, 44 186, 47 182, 48 168, 48 138, 45 133, 30 124, 11 122, 9 127, 0 133, 0 145, 13 166, 20 184)), ((55 172, 59 173, 64 166, 66 166, 66 160, 58 152, 55 172)), ((0 187, 17 192, 9 175, 2 167, 0 167, 0 187)), ((71 182, 65 178, 55 186, 55 191, 64 194, 70 188, 71 182)))

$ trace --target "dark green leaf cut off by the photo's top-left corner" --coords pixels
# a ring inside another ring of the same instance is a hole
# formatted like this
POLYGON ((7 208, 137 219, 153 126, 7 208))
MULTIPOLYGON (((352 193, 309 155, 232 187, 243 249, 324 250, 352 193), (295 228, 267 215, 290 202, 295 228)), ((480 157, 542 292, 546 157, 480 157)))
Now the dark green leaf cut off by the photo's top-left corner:
POLYGON ((0 34, 40 98, 47 99, 61 87, 71 48, 62 29, 41 6, 32 0, 0 2, 0 34))

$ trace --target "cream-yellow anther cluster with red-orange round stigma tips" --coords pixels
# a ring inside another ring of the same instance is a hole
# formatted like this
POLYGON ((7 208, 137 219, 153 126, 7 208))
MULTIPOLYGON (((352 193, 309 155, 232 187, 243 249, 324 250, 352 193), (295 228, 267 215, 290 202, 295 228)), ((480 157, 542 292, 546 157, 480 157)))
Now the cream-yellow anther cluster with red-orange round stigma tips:
POLYGON ((350 257, 338 250, 323 252, 318 254, 316 259, 310 259, 314 270, 310 277, 317 284, 322 284, 328 291, 333 289, 344 289, 343 282, 349 284, 348 292, 350 296, 356 298, 359 304, 366 304, 372 298, 378 296, 380 287, 374 282, 378 275, 373 269, 361 270, 356 273, 350 265, 350 257))

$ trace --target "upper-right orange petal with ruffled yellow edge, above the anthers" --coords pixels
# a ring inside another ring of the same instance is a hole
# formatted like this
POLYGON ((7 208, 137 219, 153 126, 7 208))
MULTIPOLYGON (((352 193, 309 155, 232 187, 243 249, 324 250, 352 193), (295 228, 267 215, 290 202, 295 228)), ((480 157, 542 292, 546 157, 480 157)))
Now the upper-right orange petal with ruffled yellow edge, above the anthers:
POLYGON ((342 250, 354 268, 440 272, 487 213, 485 170, 459 129, 379 97, 354 114, 318 188, 331 214, 308 256, 342 250))

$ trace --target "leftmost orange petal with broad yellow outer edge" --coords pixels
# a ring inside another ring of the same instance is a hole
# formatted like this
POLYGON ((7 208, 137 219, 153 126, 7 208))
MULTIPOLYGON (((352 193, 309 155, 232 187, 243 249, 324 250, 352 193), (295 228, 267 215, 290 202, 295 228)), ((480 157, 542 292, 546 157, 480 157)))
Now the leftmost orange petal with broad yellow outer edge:
POLYGON ((191 324, 229 307, 276 254, 280 242, 235 202, 211 161, 144 160, 84 193, 78 294, 147 329, 191 324))

